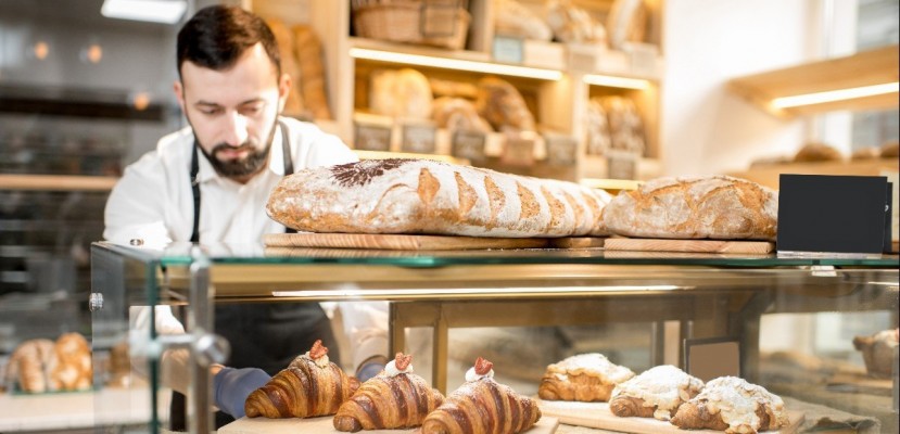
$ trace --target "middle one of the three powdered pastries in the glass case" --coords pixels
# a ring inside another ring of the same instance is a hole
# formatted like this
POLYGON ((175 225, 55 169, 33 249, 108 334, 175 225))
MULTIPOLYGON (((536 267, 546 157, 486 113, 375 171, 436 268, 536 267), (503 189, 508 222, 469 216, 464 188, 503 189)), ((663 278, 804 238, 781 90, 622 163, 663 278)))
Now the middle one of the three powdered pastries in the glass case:
POLYGON ((672 419, 682 404, 703 390, 702 380, 671 365, 650 368, 612 390, 609 410, 622 418, 672 419))

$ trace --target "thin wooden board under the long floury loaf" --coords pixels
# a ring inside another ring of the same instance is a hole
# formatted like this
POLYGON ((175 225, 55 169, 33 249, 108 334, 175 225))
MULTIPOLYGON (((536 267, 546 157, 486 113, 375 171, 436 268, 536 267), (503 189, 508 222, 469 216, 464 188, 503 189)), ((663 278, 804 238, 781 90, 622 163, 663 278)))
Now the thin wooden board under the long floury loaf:
POLYGON ((477 238, 448 235, 406 235, 381 233, 267 233, 267 246, 378 248, 401 251, 457 251, 484 248, 540 248, 547 239, 535 238, 477 238))

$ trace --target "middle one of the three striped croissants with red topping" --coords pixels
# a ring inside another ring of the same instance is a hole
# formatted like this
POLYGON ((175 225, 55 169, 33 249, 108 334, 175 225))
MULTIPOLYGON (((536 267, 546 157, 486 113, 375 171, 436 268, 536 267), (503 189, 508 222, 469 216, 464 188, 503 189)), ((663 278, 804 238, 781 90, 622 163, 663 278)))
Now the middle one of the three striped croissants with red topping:
POLYGON ((413 427, 438 408, 444 395, 413 373, 413 356, 397 353, 384 371, 363 383, 334 416, 334 429, 357 432, 413 427))

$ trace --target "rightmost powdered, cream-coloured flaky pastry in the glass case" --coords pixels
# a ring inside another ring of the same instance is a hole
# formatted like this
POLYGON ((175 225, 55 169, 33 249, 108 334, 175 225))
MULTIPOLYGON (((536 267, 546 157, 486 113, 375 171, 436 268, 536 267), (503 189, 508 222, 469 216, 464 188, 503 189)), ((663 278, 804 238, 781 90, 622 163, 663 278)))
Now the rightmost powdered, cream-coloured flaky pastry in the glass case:
POLYGON ((699 395, 679 407, 671 422, 684 430, 741 434, 778 430, 789 424, 779 396, 736 376, 710 380, 699 395))

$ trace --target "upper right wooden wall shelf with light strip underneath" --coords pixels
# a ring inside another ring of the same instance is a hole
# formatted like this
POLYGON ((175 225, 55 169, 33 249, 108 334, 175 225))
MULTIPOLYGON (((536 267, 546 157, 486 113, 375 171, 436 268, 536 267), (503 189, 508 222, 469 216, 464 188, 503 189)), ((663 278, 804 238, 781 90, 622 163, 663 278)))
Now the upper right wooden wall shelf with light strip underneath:
POLYGON ((790 108, 775 108, 775 98, 883 85, 898 80, 898 46, 853 55, 811 62, 783 69, 735 78, 728 88, 778 117, 817 114, 835 110, 883 110, 898 106, 898 93, 855 98, 790 108))

